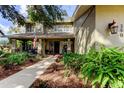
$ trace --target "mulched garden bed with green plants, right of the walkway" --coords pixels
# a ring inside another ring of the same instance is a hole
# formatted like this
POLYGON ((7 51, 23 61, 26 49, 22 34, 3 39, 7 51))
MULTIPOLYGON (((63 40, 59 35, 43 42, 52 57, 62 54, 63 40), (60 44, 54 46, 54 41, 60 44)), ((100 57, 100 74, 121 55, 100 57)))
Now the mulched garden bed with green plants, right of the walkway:
POLYGON ((124 88, 124 52, 120 48, 101 47, 58 58, 56 61, 62 62, 52 64, 32 87, 124 88))

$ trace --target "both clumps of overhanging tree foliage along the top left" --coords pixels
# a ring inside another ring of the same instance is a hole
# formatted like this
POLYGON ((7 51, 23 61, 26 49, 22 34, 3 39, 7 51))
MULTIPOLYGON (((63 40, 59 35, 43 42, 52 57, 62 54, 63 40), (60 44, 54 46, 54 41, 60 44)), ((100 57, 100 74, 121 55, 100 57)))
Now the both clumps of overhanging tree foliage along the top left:
MULTIPOLYGON (((62 20, 62 16, 67 15, 61 6, 56 5, 28 5, 27 12, 32 22, 43 23, 47 27, 52 27, 55 20, 62 20)), ((14 5, 0 5, 0 13, 3 18, 18 25, 26 23, 26 18, 17 11, 14 5)))

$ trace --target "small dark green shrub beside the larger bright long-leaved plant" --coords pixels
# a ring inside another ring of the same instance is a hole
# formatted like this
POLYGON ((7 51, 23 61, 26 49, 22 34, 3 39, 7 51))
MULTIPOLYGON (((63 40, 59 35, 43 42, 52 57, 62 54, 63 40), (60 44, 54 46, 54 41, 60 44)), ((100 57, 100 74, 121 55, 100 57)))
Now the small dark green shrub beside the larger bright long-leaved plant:
POLYGON ((81 54, 68 53, 64 54, 63 60, 66 68, 72 69, 75 72, 79 72, 84 57, 81 54))

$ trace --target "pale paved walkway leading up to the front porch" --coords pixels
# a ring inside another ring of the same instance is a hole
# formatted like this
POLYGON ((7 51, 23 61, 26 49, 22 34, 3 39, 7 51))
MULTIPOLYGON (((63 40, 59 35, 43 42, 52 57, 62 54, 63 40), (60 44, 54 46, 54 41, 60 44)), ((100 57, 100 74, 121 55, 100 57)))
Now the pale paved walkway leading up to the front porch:
POLYGON ((28 88, 53 62, 55 62, 54 56, 45 58, 43 61, 1 80, 0 88, 28 88))

